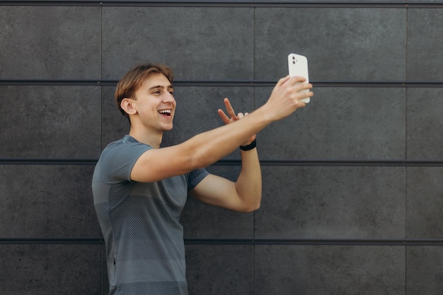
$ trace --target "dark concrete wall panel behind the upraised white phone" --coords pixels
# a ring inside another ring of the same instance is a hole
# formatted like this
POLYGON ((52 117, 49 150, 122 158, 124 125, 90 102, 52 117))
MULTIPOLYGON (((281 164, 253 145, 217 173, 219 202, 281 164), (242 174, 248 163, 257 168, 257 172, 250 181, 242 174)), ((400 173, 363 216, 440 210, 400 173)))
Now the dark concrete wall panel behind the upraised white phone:
POLYGON ((311 81, 403 80, 405 15, 387 8, 257 8, 255 79, 287 75, 287 54, 294 52, 308 57, 311 81))

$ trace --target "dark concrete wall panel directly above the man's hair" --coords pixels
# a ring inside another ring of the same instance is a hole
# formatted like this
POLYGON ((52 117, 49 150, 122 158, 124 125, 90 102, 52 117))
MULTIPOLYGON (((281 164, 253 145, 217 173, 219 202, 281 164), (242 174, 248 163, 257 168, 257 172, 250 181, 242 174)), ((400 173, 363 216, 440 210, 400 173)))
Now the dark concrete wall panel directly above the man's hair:
POLYGON ((103 8, 103 78, 167 63, 176 79, 252 79, 251 8, 103 8))

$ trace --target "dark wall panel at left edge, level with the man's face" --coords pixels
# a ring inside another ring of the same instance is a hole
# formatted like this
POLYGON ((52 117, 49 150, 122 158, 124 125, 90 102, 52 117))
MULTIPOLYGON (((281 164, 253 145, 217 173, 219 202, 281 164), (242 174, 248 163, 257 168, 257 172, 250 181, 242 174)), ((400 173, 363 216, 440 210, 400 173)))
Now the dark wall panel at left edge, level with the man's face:
POLYGON ((98 158, 100 87, 0 86, 3 158, 98 158))

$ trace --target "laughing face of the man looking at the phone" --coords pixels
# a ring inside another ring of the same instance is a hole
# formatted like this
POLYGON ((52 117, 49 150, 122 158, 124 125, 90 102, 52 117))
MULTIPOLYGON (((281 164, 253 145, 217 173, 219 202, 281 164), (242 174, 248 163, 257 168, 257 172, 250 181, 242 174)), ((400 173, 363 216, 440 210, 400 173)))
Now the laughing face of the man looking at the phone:
POLYGON ((135 98, 133 103, 145 127, 159 132, 172 129, 176 100, 166 76, 151 74, 135 91, 135 98))

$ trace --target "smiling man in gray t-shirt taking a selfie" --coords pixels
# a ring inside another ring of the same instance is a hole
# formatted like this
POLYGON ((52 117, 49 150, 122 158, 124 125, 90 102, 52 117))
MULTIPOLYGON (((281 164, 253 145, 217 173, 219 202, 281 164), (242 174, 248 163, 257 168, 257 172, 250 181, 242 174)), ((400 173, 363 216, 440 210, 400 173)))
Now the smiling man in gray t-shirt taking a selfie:
POLYGON ((313 93, 301 77, 280 79, 267 103, 235 115, 229 100, 226 125, 175 146, 160 148, 173 127, 173 73, 143 64, 118 83, 115 101, 130 120, 130 132, 106 146, 93 174, 94 204, 105 238, 110 294, 188 294, 180 213, 188 192, 207 204, 251 212, 260 207, 261 173, 255 134, 304 107, 313 93), (236 182, 205 167, 240 146, 236 182))

